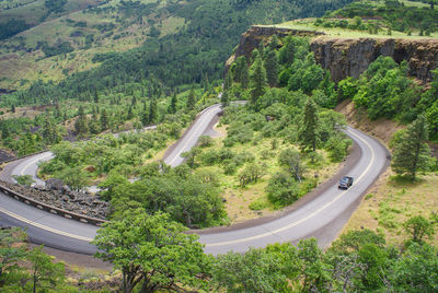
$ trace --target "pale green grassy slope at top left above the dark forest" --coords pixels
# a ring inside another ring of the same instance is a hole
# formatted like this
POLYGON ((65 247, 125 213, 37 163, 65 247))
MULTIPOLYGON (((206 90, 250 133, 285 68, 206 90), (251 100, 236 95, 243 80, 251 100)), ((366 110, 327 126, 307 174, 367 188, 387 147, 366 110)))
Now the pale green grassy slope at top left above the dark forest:
MULTIPOLYGON (((126 51, 141 46, 148 38, 151 26, 149 20, 157 22, 155 26, 159 27, 161 36, 176 32, 185 22, 182 17, 169 14, 158 16, 154 13, 143 16, 142 21, 138 22, 134 16, 125 17, 123 12, 118 11, 118 0, 97 5, 99 12, 87 9, 89 5, 95 7, 96 3, 93 0, 69 1, 66 4, 69 14, 61 13, 56 17, 50 15, 42 23, 38 23, 38 20, 45 10, 44 1, 41 0, 0 12, 2 21, 7 21, 3 16, 9 13, 10 17, 15 14, 24 15, 28 23, 35 24, 34 27, 0 42, 0 87, 25 89, 37 80, 57 82, 74 72, 95 68, 99 63, 92 62, 92 58, 96 54, 126 51), (78 23, 87 25, 79 26, 78 23), (93 37, 90 46, 87 46, 87 36, 93 37), (61 40, 70 43, 74 50, 67 55, 45 58, 44 52, 36 49, 39 42, 47 42, 49 46, 54 46, 61 40)), ((165 5, 166 2, 160 3, 165 5)))

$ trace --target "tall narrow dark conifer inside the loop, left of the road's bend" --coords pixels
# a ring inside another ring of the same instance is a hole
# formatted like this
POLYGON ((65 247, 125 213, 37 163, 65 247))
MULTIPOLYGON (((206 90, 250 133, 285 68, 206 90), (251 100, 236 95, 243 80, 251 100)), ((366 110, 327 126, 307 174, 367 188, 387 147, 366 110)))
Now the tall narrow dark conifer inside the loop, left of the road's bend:
POLYGON ((311 149, 316 151, 319 140, 320 121, 318 117, 316 104, 309 98, 304 106, 302 127, 299 131, 299 140, 303 151, 311 149))

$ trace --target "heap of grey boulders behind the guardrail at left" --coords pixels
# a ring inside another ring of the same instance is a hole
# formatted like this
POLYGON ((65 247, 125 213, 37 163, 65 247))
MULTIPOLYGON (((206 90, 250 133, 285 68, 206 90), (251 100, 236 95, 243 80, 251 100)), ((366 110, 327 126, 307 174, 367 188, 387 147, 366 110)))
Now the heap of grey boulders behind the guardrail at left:
MULTIPOLYGON (((60 180, 59 180, 60 181, 60 180)), ((110 203, 88 194, 70 190, 60 183, 47 184, 48 187, 28 187, 18 184, 1 181, 0 185, 25 197, 43 203, 64 209, 90 218, 105 220, 110 213, 110 203), (50 188, 49 188, 50 187, 50 188)))

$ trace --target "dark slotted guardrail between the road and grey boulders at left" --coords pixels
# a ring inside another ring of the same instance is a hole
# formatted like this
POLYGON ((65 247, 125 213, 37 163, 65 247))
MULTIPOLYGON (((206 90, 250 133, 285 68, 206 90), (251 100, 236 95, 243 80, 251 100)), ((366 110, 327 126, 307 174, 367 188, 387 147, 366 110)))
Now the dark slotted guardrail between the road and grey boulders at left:
POLYGON ((35 207, 39 210, 44 210, 47 212, 50 212, 53 214, 58 214, 60 216, 67 218, 67 219, 71 219, 71 220, 76 220, 82 223, 88 223, 88 224, 92 224, 92 225, 96 225, 96 226, 101 226, 103 223, 106 223, 106 220, 101 220, 101 219, 96 219, 96 218, 91 218, 91 216, 87 216, 83 214, 79 214, 79 213, 74 213, 74 212, 70 212, 60 208, 56 208, 49 204, 46 204, 44 202, 37 201, 35 199, 28 198, 26 196, 20 195, 16 191, 13 191, 2 185, 0 185, 0 191, 3 192, 4 195, 14 198, 21 202, 24 202, 28 206, 35 207))

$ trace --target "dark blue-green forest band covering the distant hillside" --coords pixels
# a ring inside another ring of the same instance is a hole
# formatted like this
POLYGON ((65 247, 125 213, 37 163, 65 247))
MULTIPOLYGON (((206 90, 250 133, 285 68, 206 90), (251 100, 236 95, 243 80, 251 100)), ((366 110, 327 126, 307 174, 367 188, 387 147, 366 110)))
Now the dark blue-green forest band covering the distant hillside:
MULTIPOLYGON (((141 83, 151 75, 170 89, 218 80, 222 77, 223 62, 232 47, 251 24, 320 16, 327 10, 349 2, 350 0, 170 2, 164 8, 157 8, 157 12, 185 19, 184 30, 162 38, 152 36, 138 49, 96 56, 95 60, 102 62, 97 69, 76 73, 59 84, 35 83, 28 91, 2 97, 1 104, 16 106, 47 104, 72 97, 87 98, 95 91, 111 91, 132 82, 141 83)), ((125 13, 138 13, 138 16, 147 9, 141 2, 123 2, 122 5, 125 13)), ((94 10, 99 13, 99 8, 94 10)))

